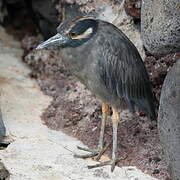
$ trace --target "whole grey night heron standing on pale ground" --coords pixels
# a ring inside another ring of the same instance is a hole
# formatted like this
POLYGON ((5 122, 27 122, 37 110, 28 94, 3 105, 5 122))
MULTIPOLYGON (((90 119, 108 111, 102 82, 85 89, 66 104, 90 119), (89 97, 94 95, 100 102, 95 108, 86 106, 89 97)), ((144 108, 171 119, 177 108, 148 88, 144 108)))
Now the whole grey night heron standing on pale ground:
POLYGON ((137 106, 150 119, 156 119, 153 94, 143 61, 131 41, 113 24, 92 17, 68 20, 57 28, 57 34, 41 43, 37 49, 49 46, 61 48, 66 67, 102 101, 102 125, 97 150, 81 148, 91 153, 82 158, 104 152, 105 121, 112 107, 113 151, 112 160, 95 166, 117 162, 118 109, 137 106))

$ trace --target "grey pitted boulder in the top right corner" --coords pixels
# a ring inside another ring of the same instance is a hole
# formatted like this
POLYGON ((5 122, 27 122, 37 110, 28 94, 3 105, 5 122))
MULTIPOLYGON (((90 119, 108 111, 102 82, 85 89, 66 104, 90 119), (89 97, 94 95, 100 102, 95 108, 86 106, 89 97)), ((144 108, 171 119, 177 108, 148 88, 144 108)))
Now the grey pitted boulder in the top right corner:
POLYGON ((153 55, 180 51, 180 1, 142 0, 143 44, 153 55))

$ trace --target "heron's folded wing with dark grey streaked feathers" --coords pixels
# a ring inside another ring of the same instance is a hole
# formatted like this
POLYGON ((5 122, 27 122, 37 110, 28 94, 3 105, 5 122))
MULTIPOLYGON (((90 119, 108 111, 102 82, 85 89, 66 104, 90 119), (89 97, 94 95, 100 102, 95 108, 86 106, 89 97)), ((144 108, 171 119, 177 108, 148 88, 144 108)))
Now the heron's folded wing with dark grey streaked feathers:
POLYGON ((120 30, 101 33, 97 42, 100 77, 109 92, 124 99, 132 111, 136 104, 155 119, 149 77, 135 46, 120 30))

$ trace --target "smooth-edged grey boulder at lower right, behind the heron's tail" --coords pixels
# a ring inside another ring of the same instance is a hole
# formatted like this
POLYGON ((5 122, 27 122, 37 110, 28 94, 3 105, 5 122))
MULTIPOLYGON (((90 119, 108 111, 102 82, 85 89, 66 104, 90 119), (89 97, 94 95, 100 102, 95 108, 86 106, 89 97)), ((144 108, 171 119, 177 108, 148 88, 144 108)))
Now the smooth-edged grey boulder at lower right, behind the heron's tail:
POLYGON ((158 117, 160 140, 173 180, 180 179, 180 58, 163 84, 158 117))

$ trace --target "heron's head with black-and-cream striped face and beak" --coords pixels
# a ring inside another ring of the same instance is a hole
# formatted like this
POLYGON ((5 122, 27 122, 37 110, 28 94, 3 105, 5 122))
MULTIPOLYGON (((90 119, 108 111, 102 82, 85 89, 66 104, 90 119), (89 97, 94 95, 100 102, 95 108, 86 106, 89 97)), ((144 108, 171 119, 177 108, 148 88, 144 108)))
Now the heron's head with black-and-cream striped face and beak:
POLYGON ((50 46, 61 48, 80 46, 93 37, 97 28, 98 21, 92 17, 82 17, 66 21, 59 25, 55 36, 39 44, 36 49, 50 46))

